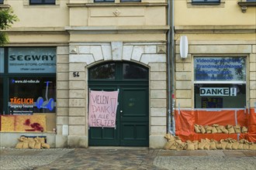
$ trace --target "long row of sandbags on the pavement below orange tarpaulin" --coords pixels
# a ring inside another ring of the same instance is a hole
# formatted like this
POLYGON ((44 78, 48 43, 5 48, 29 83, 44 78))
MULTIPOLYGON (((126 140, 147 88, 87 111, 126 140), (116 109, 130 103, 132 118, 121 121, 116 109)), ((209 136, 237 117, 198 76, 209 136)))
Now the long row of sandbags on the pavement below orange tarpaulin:
POLYGON ((200 141, 186 141, 183 142, 178 136, 171 134, 165 134, 164 138, 168 141, 164 145, 166 150, 216 150, 216 149, 244 149, 244 150, 256 150, 256 143, 249 142, 245 139, 236 141, 233 138, 222 139, 215 141, 214 139, 201 139, 200 141))

